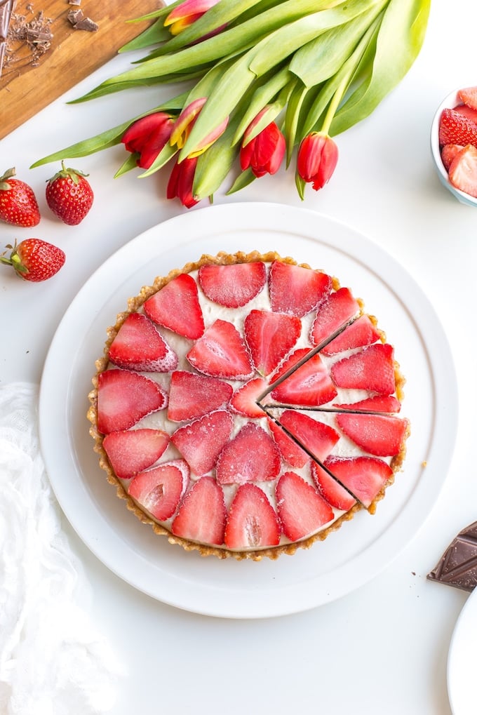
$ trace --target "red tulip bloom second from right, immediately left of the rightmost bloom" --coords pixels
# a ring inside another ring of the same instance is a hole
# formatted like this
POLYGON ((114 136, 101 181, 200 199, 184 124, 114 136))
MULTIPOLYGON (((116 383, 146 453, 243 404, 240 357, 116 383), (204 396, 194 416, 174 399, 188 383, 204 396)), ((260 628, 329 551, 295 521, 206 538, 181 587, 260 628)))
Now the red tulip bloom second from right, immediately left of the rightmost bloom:
POLYGON ((250 122, 245 130, 240 149, 242 171, 250 167, 257 178, 265 174, 275 174, 280 168, 286 149, 285 137, 275 122, 270 122, 265 129, 262 129, 260 134, 247 141, 253 129, 260 122, 262 114, 266 111, 267 107, 257 114, 253 122, 250 122))

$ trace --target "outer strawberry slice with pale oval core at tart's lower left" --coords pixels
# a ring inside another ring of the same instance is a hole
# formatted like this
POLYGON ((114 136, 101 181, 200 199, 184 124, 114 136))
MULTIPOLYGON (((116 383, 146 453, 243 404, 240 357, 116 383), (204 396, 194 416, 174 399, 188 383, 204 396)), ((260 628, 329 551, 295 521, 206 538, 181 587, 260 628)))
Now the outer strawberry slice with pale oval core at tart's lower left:
POLYGON ((175 513, 189 484, 189 467, 182 459, 139 472, 127 490, 134 501, 158 521, 166 521, 175 513))

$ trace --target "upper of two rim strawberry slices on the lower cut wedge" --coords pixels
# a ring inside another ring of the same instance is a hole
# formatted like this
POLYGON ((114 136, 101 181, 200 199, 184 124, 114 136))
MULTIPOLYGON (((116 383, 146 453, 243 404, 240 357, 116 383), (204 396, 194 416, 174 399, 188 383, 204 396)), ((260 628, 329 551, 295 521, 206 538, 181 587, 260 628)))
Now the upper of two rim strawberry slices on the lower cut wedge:
POLYGON ((336 422, 355 444, 378 457, 397 455, 408 432, 408 420, 390 415, 340 413, 336 422))

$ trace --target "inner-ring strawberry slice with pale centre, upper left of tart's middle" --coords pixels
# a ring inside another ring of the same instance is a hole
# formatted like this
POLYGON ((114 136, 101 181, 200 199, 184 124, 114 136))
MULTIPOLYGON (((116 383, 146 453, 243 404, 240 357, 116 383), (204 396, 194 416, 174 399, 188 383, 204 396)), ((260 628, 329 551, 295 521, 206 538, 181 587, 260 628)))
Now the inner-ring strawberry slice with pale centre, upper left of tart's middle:
POLYGON ((186 357, 196 370, 214 378, 248 380, 253 375, 247 346, 227 320, 212 323, 186 357))

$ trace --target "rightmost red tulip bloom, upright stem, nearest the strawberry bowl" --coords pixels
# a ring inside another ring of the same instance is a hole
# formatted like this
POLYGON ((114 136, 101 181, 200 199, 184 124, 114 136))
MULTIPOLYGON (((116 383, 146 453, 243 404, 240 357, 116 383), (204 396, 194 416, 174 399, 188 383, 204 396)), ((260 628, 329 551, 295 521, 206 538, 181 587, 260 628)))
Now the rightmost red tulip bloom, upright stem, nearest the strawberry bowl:
POLYGON ((322 189, 330 180, 338 162, 338 147, 324 132, 313 132, 298 149, 297 170, 303 181, 322 189))

